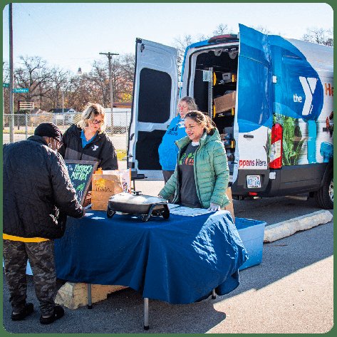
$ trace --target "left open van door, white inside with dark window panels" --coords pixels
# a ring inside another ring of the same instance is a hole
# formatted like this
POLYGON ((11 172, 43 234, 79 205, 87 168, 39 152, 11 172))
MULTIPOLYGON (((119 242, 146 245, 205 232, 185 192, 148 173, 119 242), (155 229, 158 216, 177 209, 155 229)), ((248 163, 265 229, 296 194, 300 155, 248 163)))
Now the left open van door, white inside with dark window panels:
POLYGON ((162 177, 158 147, 177 110, 177 49, 136 40, 128 167, 162 177))

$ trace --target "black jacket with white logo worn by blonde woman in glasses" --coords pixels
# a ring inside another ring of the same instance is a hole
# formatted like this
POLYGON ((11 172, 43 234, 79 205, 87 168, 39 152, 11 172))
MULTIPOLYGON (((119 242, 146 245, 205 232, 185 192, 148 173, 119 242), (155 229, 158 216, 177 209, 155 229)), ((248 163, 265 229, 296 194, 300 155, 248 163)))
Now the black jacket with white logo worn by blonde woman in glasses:
POLYGON ((105 133, 95 135, 92 142, 82 147, 81 128, 71 125, 63 135, 63 146, 58 151, 66 160, 90 160, 99 162, 102 170, 118 170, 117 155, 113 142, 105 133))

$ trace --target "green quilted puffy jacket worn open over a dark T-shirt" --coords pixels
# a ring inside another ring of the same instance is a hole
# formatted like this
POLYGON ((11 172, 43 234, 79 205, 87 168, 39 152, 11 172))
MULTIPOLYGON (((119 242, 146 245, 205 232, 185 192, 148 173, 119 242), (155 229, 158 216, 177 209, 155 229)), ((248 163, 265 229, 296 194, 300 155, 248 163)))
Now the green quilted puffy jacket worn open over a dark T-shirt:
MULTIPOLYGON (((186 149, 190 138, 185 137, 175 143, 179 147, 178 161, 186 149)), ((209 204, 219 204, 224 207, 229 204, 226 190, 229 180, 229 168, 224 145, 221 142, 217 129, 213 129, 211 134, 204 133, 199 140, 199 147, 195 151, 195 185, 197 196, 203 208, 208 208, 209 204)), ((172 202, 180 199, 179 170, 175 167, 175 173, 167 180, 167 183, 159 194, 168 199, 174 195, 172 202)))

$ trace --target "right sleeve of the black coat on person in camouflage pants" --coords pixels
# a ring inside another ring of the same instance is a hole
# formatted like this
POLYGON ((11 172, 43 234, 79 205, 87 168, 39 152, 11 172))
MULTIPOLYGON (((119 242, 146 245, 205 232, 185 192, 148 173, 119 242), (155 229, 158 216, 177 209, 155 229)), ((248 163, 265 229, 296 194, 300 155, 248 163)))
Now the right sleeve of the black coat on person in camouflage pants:
POLYGON ((53 199, 60 212, 70 217, 83 217, 84 209, 78 202, 76 191, 68 175, 66 164, 61 155, 51 155, 51 184, 53 199))

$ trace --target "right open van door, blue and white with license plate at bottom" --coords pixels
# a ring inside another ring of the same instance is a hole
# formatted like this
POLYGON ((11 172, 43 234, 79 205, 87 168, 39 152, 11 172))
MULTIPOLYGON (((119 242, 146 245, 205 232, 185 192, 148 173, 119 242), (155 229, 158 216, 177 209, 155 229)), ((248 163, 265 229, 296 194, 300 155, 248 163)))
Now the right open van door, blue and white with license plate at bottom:
POLYGON ((234 195, 261 192, 269 182, 272 73, 268 36, 239 25, 234 195))

